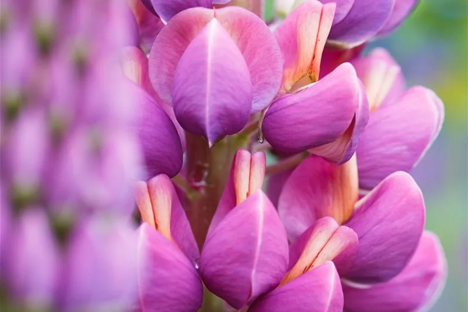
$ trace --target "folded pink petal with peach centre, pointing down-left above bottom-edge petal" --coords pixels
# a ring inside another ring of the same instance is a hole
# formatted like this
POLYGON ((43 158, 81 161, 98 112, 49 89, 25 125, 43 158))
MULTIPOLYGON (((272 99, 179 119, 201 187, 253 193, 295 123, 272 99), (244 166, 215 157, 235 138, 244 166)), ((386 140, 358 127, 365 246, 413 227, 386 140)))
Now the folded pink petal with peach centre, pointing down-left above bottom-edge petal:
POLYGON ((341 257, 337 258, 340 261, 336 269, 342 274, 352 264, 357 247, 358 235, 352 229, 339 226, 331 217, 321 218, 290 246, 290 269, 281 284, 289 283, 337 256, 341 257))

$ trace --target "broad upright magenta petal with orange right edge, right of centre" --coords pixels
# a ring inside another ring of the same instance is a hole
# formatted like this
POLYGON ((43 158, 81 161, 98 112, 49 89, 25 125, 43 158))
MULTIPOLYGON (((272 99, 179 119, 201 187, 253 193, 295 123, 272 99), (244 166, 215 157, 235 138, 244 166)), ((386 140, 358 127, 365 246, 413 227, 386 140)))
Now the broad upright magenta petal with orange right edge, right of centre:
POLYGON ((342 224, 358 200, 358 168, 355 157, 336 166, 309 156, 291 173, 279 195, 278 213, 291 241, 318 219, 331 216, 342 224))

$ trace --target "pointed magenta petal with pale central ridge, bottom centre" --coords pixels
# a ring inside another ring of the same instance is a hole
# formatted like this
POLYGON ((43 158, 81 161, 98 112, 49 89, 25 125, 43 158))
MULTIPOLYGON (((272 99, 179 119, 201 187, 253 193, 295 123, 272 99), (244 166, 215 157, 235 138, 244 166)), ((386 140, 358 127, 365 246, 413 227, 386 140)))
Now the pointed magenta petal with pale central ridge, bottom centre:
POLYGON ((208 235, 200 256, 205 285, 236 309, 274 289, 287 265, 286 231, 261 191, 222 219, 208 235))

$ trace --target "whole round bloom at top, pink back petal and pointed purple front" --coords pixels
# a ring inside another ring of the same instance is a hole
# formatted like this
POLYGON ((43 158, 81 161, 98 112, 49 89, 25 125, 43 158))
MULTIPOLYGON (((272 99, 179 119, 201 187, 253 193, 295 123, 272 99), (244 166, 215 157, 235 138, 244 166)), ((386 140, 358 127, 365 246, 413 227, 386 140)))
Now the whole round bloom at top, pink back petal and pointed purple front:
POLYGON ((272 33, 255 14, 239 7, 191 8, 157 36, 149 78, 158 96, 174 107, 180 125, 212 145, 268 106, 282 62, 272 33))

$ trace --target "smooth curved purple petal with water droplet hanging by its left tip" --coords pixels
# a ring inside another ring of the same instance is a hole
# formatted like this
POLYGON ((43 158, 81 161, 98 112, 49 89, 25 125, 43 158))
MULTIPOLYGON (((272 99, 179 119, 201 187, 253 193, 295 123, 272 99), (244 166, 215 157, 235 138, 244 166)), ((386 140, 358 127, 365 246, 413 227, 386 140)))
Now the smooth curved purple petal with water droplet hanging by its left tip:
POLYGON ((304 89, 277 99, 262 125, 275 150, 294 154, 331 143, 351 125, 362 99, 361 82, 345 63, 304 89))

